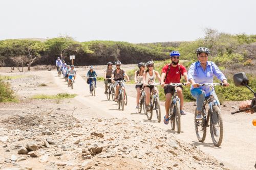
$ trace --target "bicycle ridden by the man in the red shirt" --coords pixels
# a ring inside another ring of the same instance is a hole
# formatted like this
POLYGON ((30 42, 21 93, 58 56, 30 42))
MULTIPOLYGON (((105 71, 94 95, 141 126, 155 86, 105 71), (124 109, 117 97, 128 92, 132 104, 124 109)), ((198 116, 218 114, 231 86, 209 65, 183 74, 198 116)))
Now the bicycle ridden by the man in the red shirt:
POLYGON ((172 101, 170 102, 169 108, 169 120, 172 130, 175 130, 175 124, 177 127, 177 133, 180 133, 181 121, 180 121, 180 98, 177 94, 177 87, 180 85, 186 85, 186 83, 170 83, 166 86, 174 86, 172 101))

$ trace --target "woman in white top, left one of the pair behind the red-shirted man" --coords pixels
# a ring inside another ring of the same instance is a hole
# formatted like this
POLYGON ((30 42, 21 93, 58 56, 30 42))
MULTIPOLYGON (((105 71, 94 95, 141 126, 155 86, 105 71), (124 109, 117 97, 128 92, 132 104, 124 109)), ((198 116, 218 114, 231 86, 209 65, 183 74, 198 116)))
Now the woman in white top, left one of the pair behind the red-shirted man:
POLYGON ((142 89, 143 86, 143 75, 145 72, 145 67, 146 64, 143 62, 140 62, 138 64, 139 70, 134 72, 134 82, 135 84, 135 89, 137 91, 137 102, 136 102, 136 109, 139 109, 139 102, 140 102, 140 91, 142 89))

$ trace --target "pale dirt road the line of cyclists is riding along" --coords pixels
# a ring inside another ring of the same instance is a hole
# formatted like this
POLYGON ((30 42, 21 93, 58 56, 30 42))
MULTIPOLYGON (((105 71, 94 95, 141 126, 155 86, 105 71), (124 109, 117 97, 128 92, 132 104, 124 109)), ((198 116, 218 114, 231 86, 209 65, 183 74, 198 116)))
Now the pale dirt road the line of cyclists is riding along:
MULTIPOLYGON (((71 90, 63 79, 57 77, 56 71, 36 71, 30 72, 31 75, 40 75, 46 78, 45 81, 51 81, 49 91, 41 91, 41 93, 67 92, 78 94, 75 98, 76 105, 84 105, 87 110, 79 113, 74 113, 78 118, 92 118, 92 117, 118 117, 127 118, 131 120, 140 120, 141 122, 148 123, 164 129, 166 134, 174 134, 177 138, 182 139, 187 143, 193 143, 205 153, 219 159, 226 167, 230 169, 254 169, 256 161, 256 129, 252 126, 252 119, 256 118, 256 114, 237 114, 231 115, 231 106, 223 108, 222 116, 224 120, 224 138, 221 147, 217 148, 211 142, 210 133, 207 132, 206 140, 204 143, 198 142, 194 128, 194 114, 192 112, 195 107, 190 103, 185 107, 187 115, 181 118, 181 133, 175 134, 170 130, 170 125, 164 125, 156 122, 156 115, 153 115, 152 121, 148 121, 144 114, 138 114, 135 109, 135 89, 129 85, 127 92, 128 104, 125 106, 124 111, 117 110, 117 104, 112 101, 107 101, 104 94, 103 83, 98 82, 96 88, 96 96, 91 96, 89 93, 89 86, 86 81, 81 77, 84 72, 79 72, 76 78, 74 89, 71 90), (54 90, 53 90, 54 89, 54 90)), ((32 90, 33 91, 33 90, 32 90)), ((31 92, 30 92, 31 93, 31 92)), ((34 93, 34 92, 33 92, 34 93)), ((29 94, 29 92, 28 92, 29 94)), ((164 107, 161 107, 162 118, 164 115, 164 107)))

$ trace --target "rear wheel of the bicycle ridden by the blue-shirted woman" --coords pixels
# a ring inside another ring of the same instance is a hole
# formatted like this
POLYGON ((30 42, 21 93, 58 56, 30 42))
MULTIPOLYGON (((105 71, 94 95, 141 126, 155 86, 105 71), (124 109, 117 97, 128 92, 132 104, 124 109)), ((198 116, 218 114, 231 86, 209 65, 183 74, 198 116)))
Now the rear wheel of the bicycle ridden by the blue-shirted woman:
MULTIPOLYGON (((205 108, 202 109, 202 116, 204 117, 206 115, 205 108)), ((206 137, 206 119, 203 118, 202 120, 197 120, 197 109, 195 111, 195 129, 197 134, 197 139, 200 142, 204 142, 206 137)))

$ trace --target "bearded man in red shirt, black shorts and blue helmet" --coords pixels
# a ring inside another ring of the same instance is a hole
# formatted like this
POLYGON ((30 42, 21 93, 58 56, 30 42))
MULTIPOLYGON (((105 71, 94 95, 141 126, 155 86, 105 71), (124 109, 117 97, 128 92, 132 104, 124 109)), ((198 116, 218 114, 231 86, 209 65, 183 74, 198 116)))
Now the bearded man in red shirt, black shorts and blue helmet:
MULTIPOLYGON (((169 83, 180 83, 181 76, 183 75, 187 85, 189 85, 189 81, 187 79, 187 70, 186 67, 179 64, 180 53, 178 51, 173 51, 170 53, 170 60, 172 61, 170 64, 166 64, 162 68, 161 75, 161 85, 164 87, 165 93, 165 118, 164 124, 168 124, 168 112, 170 109, 170 100, 172 99, 172 93, 174 90, 174 86, 165 86, 169 83)), ((182 94, 182 86, 177 87, 177 93, 180 98, 180 113, 185 115, 183 111, 183 94, 182 94)))

